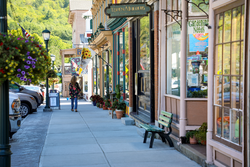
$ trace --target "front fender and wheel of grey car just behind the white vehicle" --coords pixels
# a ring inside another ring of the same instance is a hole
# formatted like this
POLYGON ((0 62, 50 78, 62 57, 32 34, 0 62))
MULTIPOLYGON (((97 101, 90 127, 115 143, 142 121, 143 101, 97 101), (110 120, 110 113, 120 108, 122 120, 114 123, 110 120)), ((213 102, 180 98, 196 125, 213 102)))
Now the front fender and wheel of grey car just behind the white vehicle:
POLYGON ((28 114, 36 112, 37 102, 33 96, 25 93, 16 93, 16 94, 19 96, 21 100, 20 114, 22 118, 25 118, 28 114))

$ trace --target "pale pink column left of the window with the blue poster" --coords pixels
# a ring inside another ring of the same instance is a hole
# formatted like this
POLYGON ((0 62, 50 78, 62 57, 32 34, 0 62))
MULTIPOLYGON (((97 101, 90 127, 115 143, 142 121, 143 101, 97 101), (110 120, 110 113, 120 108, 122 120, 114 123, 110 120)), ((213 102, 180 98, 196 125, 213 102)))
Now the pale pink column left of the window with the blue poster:
MULTIPOLYGON (((186 50, 187 50, 187 1, 182 1, 181 22, 181 70, 180 70, 180 138, 186 135, 186 50)), ((182 140, 181 140, 182 142, 182 140)))

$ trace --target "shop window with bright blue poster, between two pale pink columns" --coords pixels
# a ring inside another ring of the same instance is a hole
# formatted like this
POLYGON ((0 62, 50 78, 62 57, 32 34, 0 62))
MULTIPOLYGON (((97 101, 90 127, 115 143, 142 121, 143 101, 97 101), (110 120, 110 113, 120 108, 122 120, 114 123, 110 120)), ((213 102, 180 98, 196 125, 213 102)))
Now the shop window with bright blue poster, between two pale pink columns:
POLYGON ((187 36, 187 97, 207 97, 208 20, 189 20, 187 36))

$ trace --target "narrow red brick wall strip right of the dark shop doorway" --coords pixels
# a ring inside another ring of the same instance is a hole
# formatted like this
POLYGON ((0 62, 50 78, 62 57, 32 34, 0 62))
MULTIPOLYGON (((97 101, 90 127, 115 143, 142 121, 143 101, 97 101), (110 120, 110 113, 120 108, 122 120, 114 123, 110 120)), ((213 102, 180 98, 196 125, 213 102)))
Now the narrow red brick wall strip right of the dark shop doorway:
POLYGON ((155 120, 158 120, 158 86, 159 86, 159 10, 154 12, 154 85, 155 85, 155 120))

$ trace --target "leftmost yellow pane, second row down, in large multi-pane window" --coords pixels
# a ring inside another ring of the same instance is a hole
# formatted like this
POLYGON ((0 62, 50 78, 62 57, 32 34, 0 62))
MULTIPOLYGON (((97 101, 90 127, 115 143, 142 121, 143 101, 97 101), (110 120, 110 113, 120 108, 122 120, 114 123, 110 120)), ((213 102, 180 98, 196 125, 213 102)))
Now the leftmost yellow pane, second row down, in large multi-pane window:
POLYGON ((215 75, 222 75, 222 45, 215 47, 215 75))

